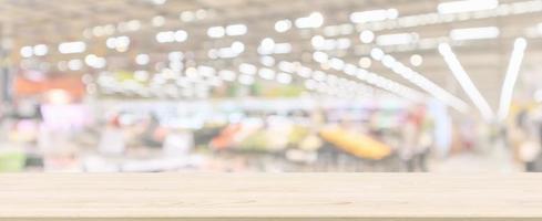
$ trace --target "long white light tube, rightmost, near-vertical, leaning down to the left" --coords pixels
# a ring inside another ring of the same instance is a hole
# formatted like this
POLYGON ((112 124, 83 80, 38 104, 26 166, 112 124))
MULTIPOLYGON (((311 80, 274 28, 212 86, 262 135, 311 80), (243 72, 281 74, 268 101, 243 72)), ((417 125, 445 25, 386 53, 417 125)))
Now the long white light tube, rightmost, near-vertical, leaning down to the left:
POLYGON ((525 54, 526 40, 523 38, 515 39, 514 48, 512 50, 512 55, 510 56, 510 63, 507 70, 507 76, 504 76, 504 82, 502 83, 501 98, 499 103, 499 119, 503 120, 507 118, 510 104, 512 103, 512 95, 514 92, 514 85, 520 73, 521 62, 523 61, 523 55, 525 54))

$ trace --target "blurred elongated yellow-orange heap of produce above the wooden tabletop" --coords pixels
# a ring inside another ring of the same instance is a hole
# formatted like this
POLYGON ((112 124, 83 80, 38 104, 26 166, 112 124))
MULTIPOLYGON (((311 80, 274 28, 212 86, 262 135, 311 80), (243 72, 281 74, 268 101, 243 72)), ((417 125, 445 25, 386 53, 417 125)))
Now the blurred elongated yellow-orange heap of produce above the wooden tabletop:
POLYGON ((356 157, 367 159, 382 159, 391 154, 391 148, 374 138, 352 133, 339 127, 329 127, 320 130, 324 140, 333 144, 356 157))

